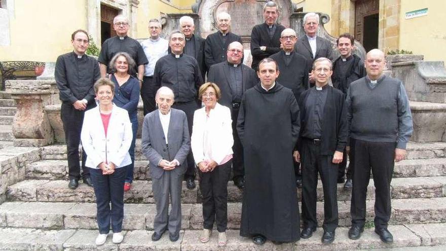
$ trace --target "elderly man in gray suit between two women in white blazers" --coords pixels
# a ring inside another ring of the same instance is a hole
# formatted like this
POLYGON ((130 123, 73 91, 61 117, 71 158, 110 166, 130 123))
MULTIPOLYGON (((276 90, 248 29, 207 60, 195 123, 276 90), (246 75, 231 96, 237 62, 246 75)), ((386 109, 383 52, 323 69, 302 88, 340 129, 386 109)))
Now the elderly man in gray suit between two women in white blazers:
POLYGON ((155 101, 159 109, 145 116, 141 137, 157 206, 152 240, 159 240, 169 230, 170 240, 176 241, 181 227, 181 183, 188 168, 185 159, 191 150, 191 139, 186 114, 170 107, 174 102, 173 91, 161 87, 155 101))

